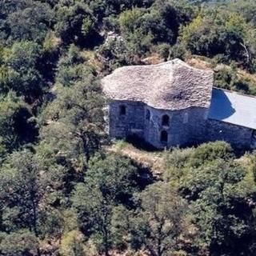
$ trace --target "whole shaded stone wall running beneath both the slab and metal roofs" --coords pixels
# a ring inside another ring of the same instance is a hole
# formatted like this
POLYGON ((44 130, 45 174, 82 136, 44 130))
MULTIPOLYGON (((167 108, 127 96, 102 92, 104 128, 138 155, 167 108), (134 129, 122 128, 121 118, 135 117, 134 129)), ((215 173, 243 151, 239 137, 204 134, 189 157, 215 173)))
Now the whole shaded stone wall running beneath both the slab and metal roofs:
POLYGON ((112 138, 127 138, 136 134, 156 148, 187 146, 201 142, 224 140, 237 148, 250 148, 252 130, 226 122, 207 119, 206 108, 158 110, 142 102, 114 101, 109 106, 109 134, 112 138), (125 114, 121 108, 125 108, 125 114), (169 126, 162 117, 169 117, 169 126), (166 131, 167 141, 161 141, 166 131))

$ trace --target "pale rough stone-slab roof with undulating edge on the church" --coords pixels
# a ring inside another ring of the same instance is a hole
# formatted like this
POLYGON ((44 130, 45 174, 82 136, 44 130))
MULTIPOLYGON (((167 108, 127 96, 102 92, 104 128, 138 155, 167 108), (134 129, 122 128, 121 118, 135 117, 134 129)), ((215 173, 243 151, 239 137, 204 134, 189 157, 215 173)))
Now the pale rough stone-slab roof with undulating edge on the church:
POLYGON ((123 66, 102 79, 112 100, 145 102, 164 110, 209 107, 214 74, 179 59, 150 66, 123 66))

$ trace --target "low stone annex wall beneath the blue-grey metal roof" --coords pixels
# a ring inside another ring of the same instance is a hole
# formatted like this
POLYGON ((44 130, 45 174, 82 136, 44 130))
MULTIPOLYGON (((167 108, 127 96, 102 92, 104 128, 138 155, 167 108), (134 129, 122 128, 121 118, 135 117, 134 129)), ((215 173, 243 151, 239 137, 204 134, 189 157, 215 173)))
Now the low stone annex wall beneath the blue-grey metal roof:
POLYGON ((208 119, 205 141, 223 140, 236 148, 250 149, 252 133, 250 128, 236 126, 227 122, 208 119))

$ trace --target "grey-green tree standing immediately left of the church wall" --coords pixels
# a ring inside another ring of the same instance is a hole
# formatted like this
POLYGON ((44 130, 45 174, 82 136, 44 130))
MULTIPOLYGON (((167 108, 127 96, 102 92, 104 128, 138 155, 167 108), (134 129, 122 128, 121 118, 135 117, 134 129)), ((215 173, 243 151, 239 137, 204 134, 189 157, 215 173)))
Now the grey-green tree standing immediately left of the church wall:
POLYGON ((41 138, 63 158, 86 162, 105 138, 102 88, 86 70, 85 80, 72 87, 56 86, 56 98, 46 107, 41 138))

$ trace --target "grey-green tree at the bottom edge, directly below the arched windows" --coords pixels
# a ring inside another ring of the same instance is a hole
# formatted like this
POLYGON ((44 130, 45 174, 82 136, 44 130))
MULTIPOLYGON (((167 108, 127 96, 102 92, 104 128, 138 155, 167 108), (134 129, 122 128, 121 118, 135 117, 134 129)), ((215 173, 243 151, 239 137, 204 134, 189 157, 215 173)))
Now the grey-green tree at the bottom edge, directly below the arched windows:
POLYGON ((138 197, 141 211, 134 218, 132 235, 145 246, 150 255, 169 255, 178 251, 188 234, 188 210, 170 184, 157 182, 143 190, 138 197))

